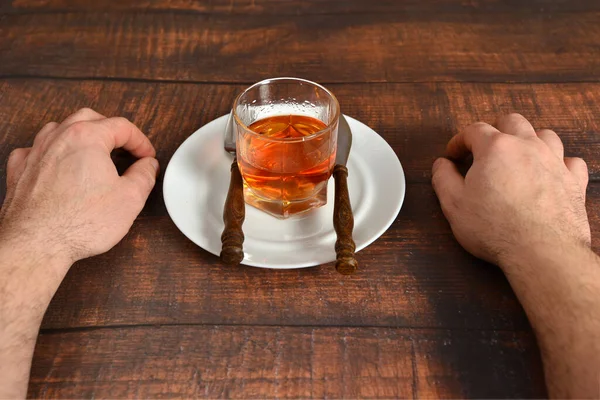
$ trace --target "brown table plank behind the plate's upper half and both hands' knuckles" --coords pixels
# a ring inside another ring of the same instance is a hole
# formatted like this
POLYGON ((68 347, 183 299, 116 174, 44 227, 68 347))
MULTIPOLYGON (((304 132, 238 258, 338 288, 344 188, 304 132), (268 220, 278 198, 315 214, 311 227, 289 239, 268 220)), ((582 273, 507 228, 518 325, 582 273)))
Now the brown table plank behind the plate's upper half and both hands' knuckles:
MULTIPOLYGON (((15 147, 29 146, 49 121, 89 106, 122 115, 148 134, 164 168, 200 126, 226 114, 245 85, 0 80, 0 176, 15 147)), ((409 182, 429 182, 431 165, 452 135, 476 121, 521 112, 538 129, 553 128, 567 155, 583 157, 600 180, 600 84, 342 84, 328 85, 345 114, 392 146, 409 182)), ((0 199, 4 198, 0 180, 0 199)), ((164 208, 153 195, 149 208, 164 208)))

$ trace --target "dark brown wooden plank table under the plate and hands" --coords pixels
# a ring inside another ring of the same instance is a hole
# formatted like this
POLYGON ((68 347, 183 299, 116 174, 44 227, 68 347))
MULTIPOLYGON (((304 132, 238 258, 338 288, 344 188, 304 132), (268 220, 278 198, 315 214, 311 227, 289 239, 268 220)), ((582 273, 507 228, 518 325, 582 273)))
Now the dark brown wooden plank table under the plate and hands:
POLYGON ((405 168, 402 211, 360 273, 224 266, 173 225, 161 176, 125 239, 58 290, 29 396, 545 396, 521 306, 455 242, 430 167, 461 127, 521 112, 588 162, 597 237, 600 2, 0 0, 0 176, 84 106, 131 119, 165 167, 274 76, 325 84, 405 168))

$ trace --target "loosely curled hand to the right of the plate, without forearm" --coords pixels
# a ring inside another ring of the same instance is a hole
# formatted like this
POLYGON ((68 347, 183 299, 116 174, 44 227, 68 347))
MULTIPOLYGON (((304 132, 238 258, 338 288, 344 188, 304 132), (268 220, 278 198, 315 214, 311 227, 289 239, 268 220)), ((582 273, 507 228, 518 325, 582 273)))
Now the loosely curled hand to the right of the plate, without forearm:
POLYGON ((536 132, 519 114, 495 125, 473 124, 448 143, 450 159, 473 155, 464 178, 447 158, 433 165, 433 187, 459 243, 503 267, 532 249, 589 247, 585 162, 564 158, 556 133, 536 132))

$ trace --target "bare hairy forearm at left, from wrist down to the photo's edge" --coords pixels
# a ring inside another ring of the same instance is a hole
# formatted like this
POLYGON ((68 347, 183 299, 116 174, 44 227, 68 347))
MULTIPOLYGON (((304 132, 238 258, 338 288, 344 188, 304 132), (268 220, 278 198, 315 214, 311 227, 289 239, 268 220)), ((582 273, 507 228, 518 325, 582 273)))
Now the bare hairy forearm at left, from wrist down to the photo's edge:
POLYGON ((0 242, 0 398, 24 398, 40 323, 68 265, 0 242))

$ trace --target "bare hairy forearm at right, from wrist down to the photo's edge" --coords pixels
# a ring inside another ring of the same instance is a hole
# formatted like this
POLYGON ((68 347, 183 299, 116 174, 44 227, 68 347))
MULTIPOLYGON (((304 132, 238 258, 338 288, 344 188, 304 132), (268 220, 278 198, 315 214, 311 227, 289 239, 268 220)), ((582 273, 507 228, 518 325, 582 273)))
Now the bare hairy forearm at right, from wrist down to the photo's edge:
POLYGON ((530 249, 503 265, 540 345, 555 398, 600 396, 600 258, 583 245, 530 249))

